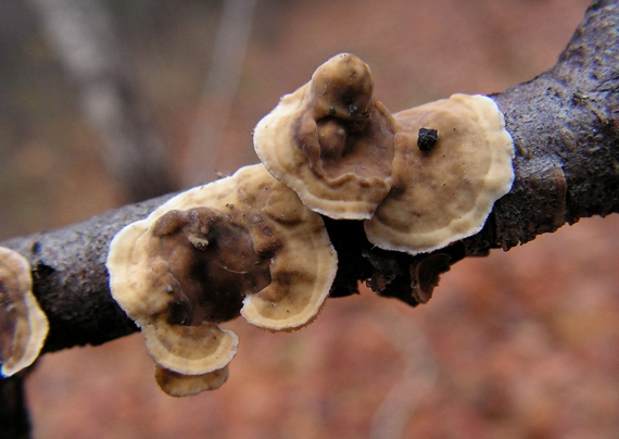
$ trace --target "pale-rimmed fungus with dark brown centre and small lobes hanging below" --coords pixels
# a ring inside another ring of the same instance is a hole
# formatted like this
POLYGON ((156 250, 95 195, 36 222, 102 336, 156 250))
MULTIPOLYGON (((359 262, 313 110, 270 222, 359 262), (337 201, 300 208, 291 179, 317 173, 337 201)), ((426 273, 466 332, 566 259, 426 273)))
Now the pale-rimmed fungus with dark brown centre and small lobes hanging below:
POLYGON ((320 215, 263 165, 177 195, 112 240, 106 266, 173 396, 219 387, 239 314, 270 330, 317 315, 338 260, 320 215))

